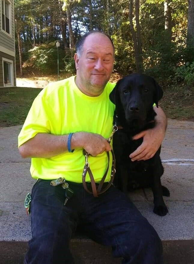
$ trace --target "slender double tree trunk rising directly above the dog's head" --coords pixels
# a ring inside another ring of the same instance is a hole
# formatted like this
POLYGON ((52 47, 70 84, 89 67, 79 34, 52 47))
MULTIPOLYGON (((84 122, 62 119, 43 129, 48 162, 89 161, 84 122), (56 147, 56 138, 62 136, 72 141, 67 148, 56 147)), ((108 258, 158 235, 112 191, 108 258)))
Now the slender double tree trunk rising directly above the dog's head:
MULTIPOLYGON (((135 8, 136 11, 136 24, 137 22, 137 17, 138 17, 138 7, 135 8)), ((137 72, 141 73, 143 72, 143 58, 142 58, 142 51, 141 54, 139 52, 139 45, 141 44, 141 37, 140 37, 140 25, 139 25, 139 32, 138 32, 138 37, 136 36, 135 29, 133 26, 133 0, 129 1, 129 22, 130 22, 130 29, 132 33, 132 38, 133 38, 133 45, 134 45, 134 51, 135 51, 135 63, 136 63, 136 68, 137 72), (139 38, 139 42, 138 42, 139 38)))

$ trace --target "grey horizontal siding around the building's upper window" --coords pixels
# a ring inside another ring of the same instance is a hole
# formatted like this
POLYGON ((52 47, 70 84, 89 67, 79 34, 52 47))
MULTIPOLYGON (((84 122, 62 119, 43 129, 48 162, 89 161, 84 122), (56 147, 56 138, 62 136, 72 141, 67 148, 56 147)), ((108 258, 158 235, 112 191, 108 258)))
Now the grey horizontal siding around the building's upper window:
MULTIPOLYGON (((14 35, 14 1, 11 0, 11 22, 12 22, 12 38, 10 38, 8 35, 2 32, 2 26, 1 26, 1 19, 2 15, 0 15, 0 46, 7 48, 8 50, 11 50, 15 52, 15 35, 14 35)), ((0 5, 1 9, 1 5, 0 5)), ((0 14, 2 14, 2 11, 0 10, 0 14)))

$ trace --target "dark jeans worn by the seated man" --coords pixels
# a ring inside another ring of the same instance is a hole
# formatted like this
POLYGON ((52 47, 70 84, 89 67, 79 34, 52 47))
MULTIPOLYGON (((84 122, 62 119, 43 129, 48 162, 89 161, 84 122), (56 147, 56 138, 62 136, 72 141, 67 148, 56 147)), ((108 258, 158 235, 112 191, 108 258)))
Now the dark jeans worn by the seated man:
POLYGON ((72 264, 70 240, 78 225, 94 241, 112 246, 124 264, 162 264, 162 243, 130 199, 113 185, 99 197, 69 183, 74 196, 38 180, 32 189, 32 239, 25 264, 72 264))

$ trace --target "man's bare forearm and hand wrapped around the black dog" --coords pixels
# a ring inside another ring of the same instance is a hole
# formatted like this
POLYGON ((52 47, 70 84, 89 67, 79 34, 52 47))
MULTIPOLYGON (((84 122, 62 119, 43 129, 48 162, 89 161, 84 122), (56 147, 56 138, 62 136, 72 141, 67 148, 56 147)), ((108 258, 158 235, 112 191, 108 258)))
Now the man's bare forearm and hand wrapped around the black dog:
POLYGON ((167 118, 161 107, 157 108, 154 106, 154 111, 157 114, 155 117, 156 126, 153 129, 142 131, 133 137, 133 139, 143 137, 143 142, 133 153, 130 154, 129 157, 132 161, 152 158, 162 144, 167 127, 167 118))

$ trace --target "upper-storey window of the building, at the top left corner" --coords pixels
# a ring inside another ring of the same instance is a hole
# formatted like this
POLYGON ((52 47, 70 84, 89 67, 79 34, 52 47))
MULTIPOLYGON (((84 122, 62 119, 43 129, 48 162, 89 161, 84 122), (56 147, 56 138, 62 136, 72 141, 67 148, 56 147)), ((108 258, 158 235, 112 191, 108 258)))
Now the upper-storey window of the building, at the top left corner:
POLYGON ((10 21, 11 21, 11 3, 2 0, 2 30, 4 30, 8 34, 11 34, 10 21))

